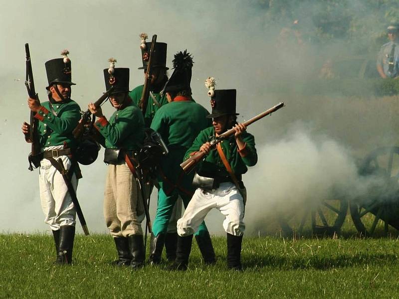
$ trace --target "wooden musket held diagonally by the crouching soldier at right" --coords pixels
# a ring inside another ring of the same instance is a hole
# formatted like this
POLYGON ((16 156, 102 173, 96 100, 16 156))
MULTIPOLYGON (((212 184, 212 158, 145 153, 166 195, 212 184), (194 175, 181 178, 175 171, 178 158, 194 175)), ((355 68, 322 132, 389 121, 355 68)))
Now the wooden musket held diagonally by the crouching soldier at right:
MULTIPOLYGON (((250 124, 260 120, 261 118, 264 118, 265 116, 268 116, 269 114, 279 110, 282 107, 284 107, 284 103, 280 102, 276 106, 266 110, 265 112, 262 112, 261 114, 258 114, 257 116, 251 118, 250 120, 248 120, 246 122, 243 122, 242 124, 245 126, 249 126, 250 124)), ((235 133, 235 130, 234 130, 234 128, 232 128, 232 129, 220 134, 216 138, 213 138, 210 141, 211 149, 214 149, 219 142, 228 138, 229 136, 233 135, 234 133, 235 133)), ((200 162, 200 160, 205 156, 205 154, 206 153, 204 151, 201 151, 201 150, 198 151, 197 153, 195 153, 194 155, 189 157, 187 160, 185 160, 183 163, 181 163, 180 167, 183 168, 184 172, 190 173, 195 168, 195 166, 198 164, 198 162, 200 162)))

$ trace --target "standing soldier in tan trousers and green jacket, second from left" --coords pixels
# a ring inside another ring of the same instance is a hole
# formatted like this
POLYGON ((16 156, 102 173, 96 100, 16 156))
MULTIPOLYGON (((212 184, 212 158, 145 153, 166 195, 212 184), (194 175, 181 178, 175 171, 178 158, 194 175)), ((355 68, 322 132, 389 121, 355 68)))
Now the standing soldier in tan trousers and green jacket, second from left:
POLYGON ((89 104, 90 112, 98 117, 94 126, 105 138, 104 162, 108 164, 108 173, 104 218, 118 252, 116 265, 138 268, 145 259, 141 228, 145 212, 136 174, 129 165, 144 139, 144 118, 128 96, 129 69, 115 68, 116 60, 109 61, 110 68, 104 69, 105 87, 109 90, 114 86, 109 99, 116 111, 108 121, 101 107, 89 104))

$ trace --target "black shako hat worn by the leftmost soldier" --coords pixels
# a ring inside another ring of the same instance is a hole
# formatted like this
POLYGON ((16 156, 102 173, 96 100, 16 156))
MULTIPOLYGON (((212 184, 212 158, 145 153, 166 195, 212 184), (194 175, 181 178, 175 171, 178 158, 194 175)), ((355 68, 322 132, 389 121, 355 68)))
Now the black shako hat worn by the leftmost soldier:
POLYGON ((50 86, 54 83, 63 83, 69 85, 76 85, 71 82, 71 61, 69 58, 65 60, 64 58, 55 58, 47 61, 45 64, 48 86, 46 87, 49 90, 50 86), (66 63, 64 61, 67 61, 66 63))

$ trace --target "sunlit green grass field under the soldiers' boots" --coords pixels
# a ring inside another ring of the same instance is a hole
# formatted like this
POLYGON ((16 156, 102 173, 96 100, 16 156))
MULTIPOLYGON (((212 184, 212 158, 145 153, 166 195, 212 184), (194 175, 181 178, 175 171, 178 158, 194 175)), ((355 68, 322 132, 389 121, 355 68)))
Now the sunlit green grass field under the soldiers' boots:
POLYGON ((215 266, 194 242, 187 272, 111 266, 108 235, 77 235, 73 266, 54 266, 47 235, 0 235, 0 298, 398 298, 399 248, 392 238, 244 237, 243 272, 227 270, 225 238, 215 266))

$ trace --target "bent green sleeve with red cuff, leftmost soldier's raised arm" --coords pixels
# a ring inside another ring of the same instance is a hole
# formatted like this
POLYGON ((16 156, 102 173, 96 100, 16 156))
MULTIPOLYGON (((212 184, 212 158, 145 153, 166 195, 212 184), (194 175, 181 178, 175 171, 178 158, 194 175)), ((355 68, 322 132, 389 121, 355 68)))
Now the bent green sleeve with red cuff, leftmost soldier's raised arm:
POLYGON ((70 133, 76 128, 81 118, 80 107, 75 102, 69 103, 65 105, 61 113, 58 113, 58 116, 55 116, 41 106, 35 117, 58 134, 70 133))

